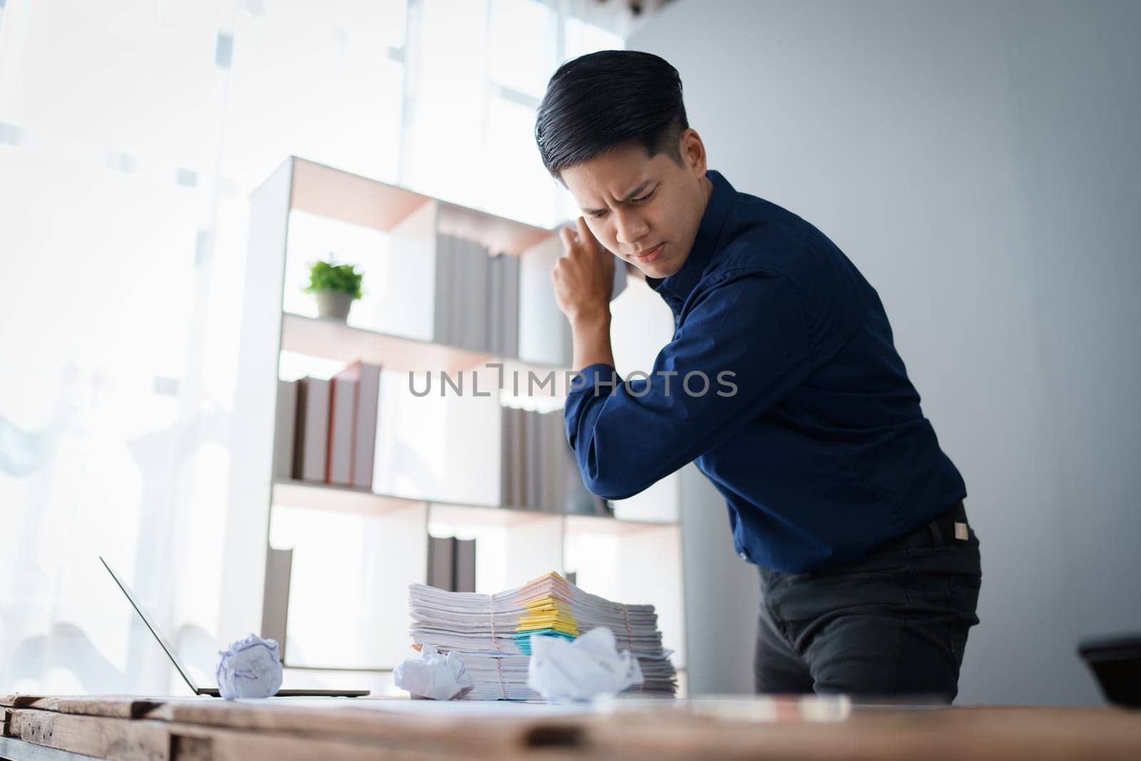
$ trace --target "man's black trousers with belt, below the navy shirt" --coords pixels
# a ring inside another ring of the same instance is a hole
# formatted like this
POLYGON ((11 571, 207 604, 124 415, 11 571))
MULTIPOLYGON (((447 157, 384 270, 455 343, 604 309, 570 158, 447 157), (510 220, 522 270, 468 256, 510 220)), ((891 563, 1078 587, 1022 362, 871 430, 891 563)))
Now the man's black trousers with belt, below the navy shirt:
POLYGON ((962 502, 859 560, 761 568, 756 691, 954 701, 981 580, 979 540, 956 523, 962 502))

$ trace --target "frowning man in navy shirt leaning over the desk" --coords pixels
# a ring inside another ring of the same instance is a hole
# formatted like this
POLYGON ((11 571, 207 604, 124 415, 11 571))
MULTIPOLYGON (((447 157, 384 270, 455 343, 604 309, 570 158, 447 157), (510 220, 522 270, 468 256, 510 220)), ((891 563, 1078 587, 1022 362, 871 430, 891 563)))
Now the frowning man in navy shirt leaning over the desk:
POLYGON ((875 290, 810 224, 706 171, 657 56, 564 64, 535 138, 583 211, 551 275, 586 486, 623 499, 696 461, 760 568, 758 691, 953 701, 978 540, 875 290), (648 378, 615 374, 607 250, 674 315, 648 378))

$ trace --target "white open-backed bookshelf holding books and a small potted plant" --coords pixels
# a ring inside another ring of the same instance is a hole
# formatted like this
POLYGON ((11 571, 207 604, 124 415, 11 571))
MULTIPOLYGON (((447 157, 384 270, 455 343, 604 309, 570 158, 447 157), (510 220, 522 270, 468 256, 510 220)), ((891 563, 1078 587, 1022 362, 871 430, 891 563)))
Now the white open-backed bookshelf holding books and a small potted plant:
MULTIPOLYGON (((550 269, 561 252, 555 230, 290 157, 251 196, 249 242, 221 632, 260 631, 282 641, 286 674, 301 674, 298 683, 342 686, 353 673, 375 679, 413 654, 407 585, 427 578, 431 533, 477 540, 479 592, 557 570, 575 573, 586 591, 653 602, 674 664, 685 669, 674 477, 614 503, 614 517, 499 504, 500 405, 558 408, 566 392, 570 339, 551 290, 550 269), (305 241, 316 245, 325 224, 343 240, 363 242, 338 252, 365 272, 366 299, 348 324, 313 316, 296 293, 306 261, 323 256, 297 249, 305 241), (520 257, 518 356, 434 340, 437 233, 520 257), (277 379, 327 374, 355 359, 385 371, 372 488, 275 479, 277 379), (525 390, 518 397, 510 388, 499 391, 491 362, 505 373, 556 372, 559 383, 535 399, 525 390), (495 392, 440 398, 434 389, 414 397, 400 379, 429 369, 477 373, 480 388, 495 392), (270 547, 292 550, 285 575, 280 562, 267 569, 270 547)), ((616 310, 640 315, 615 321, 620 371, 623 347, 646 342, 638 331, 647 321, 658 325, 658 337, 672 330, 667 310, 647 306, 658 302, 640 283, 615 302, 616 310), (633 332, 617 334, 624 326, 633 332)), ((649 369, 637 361, 631 369, 649 369)))

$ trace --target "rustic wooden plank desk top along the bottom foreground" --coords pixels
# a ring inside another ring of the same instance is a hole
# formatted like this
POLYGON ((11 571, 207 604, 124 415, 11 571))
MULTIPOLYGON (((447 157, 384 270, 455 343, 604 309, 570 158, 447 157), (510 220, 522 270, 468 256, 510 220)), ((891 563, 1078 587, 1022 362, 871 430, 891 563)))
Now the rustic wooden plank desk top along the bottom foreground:
MULTIPOLYGON (((853 707, 840 698, 617 701, 575 709, 370 698, 0 696, 26 758, 1138 759, 1141 712, 853 707), (25 745, 30 744, 30 745, 25 745), (40 755, 34 755, 39 753, 40 755)), ((22 758, 16 755, 16 758, 22 758)))

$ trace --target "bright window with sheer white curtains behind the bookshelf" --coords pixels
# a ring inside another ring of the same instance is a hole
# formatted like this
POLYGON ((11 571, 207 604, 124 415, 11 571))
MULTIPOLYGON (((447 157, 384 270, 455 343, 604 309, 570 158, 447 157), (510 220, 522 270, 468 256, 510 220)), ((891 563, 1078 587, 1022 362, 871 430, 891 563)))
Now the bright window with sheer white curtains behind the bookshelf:
POLYGON ((296 154, 552 225, 534 104, 592 46, 528 0, 0 2, 5 689, 181 689, 97 554, 212 669, 250 191, 296 154))

